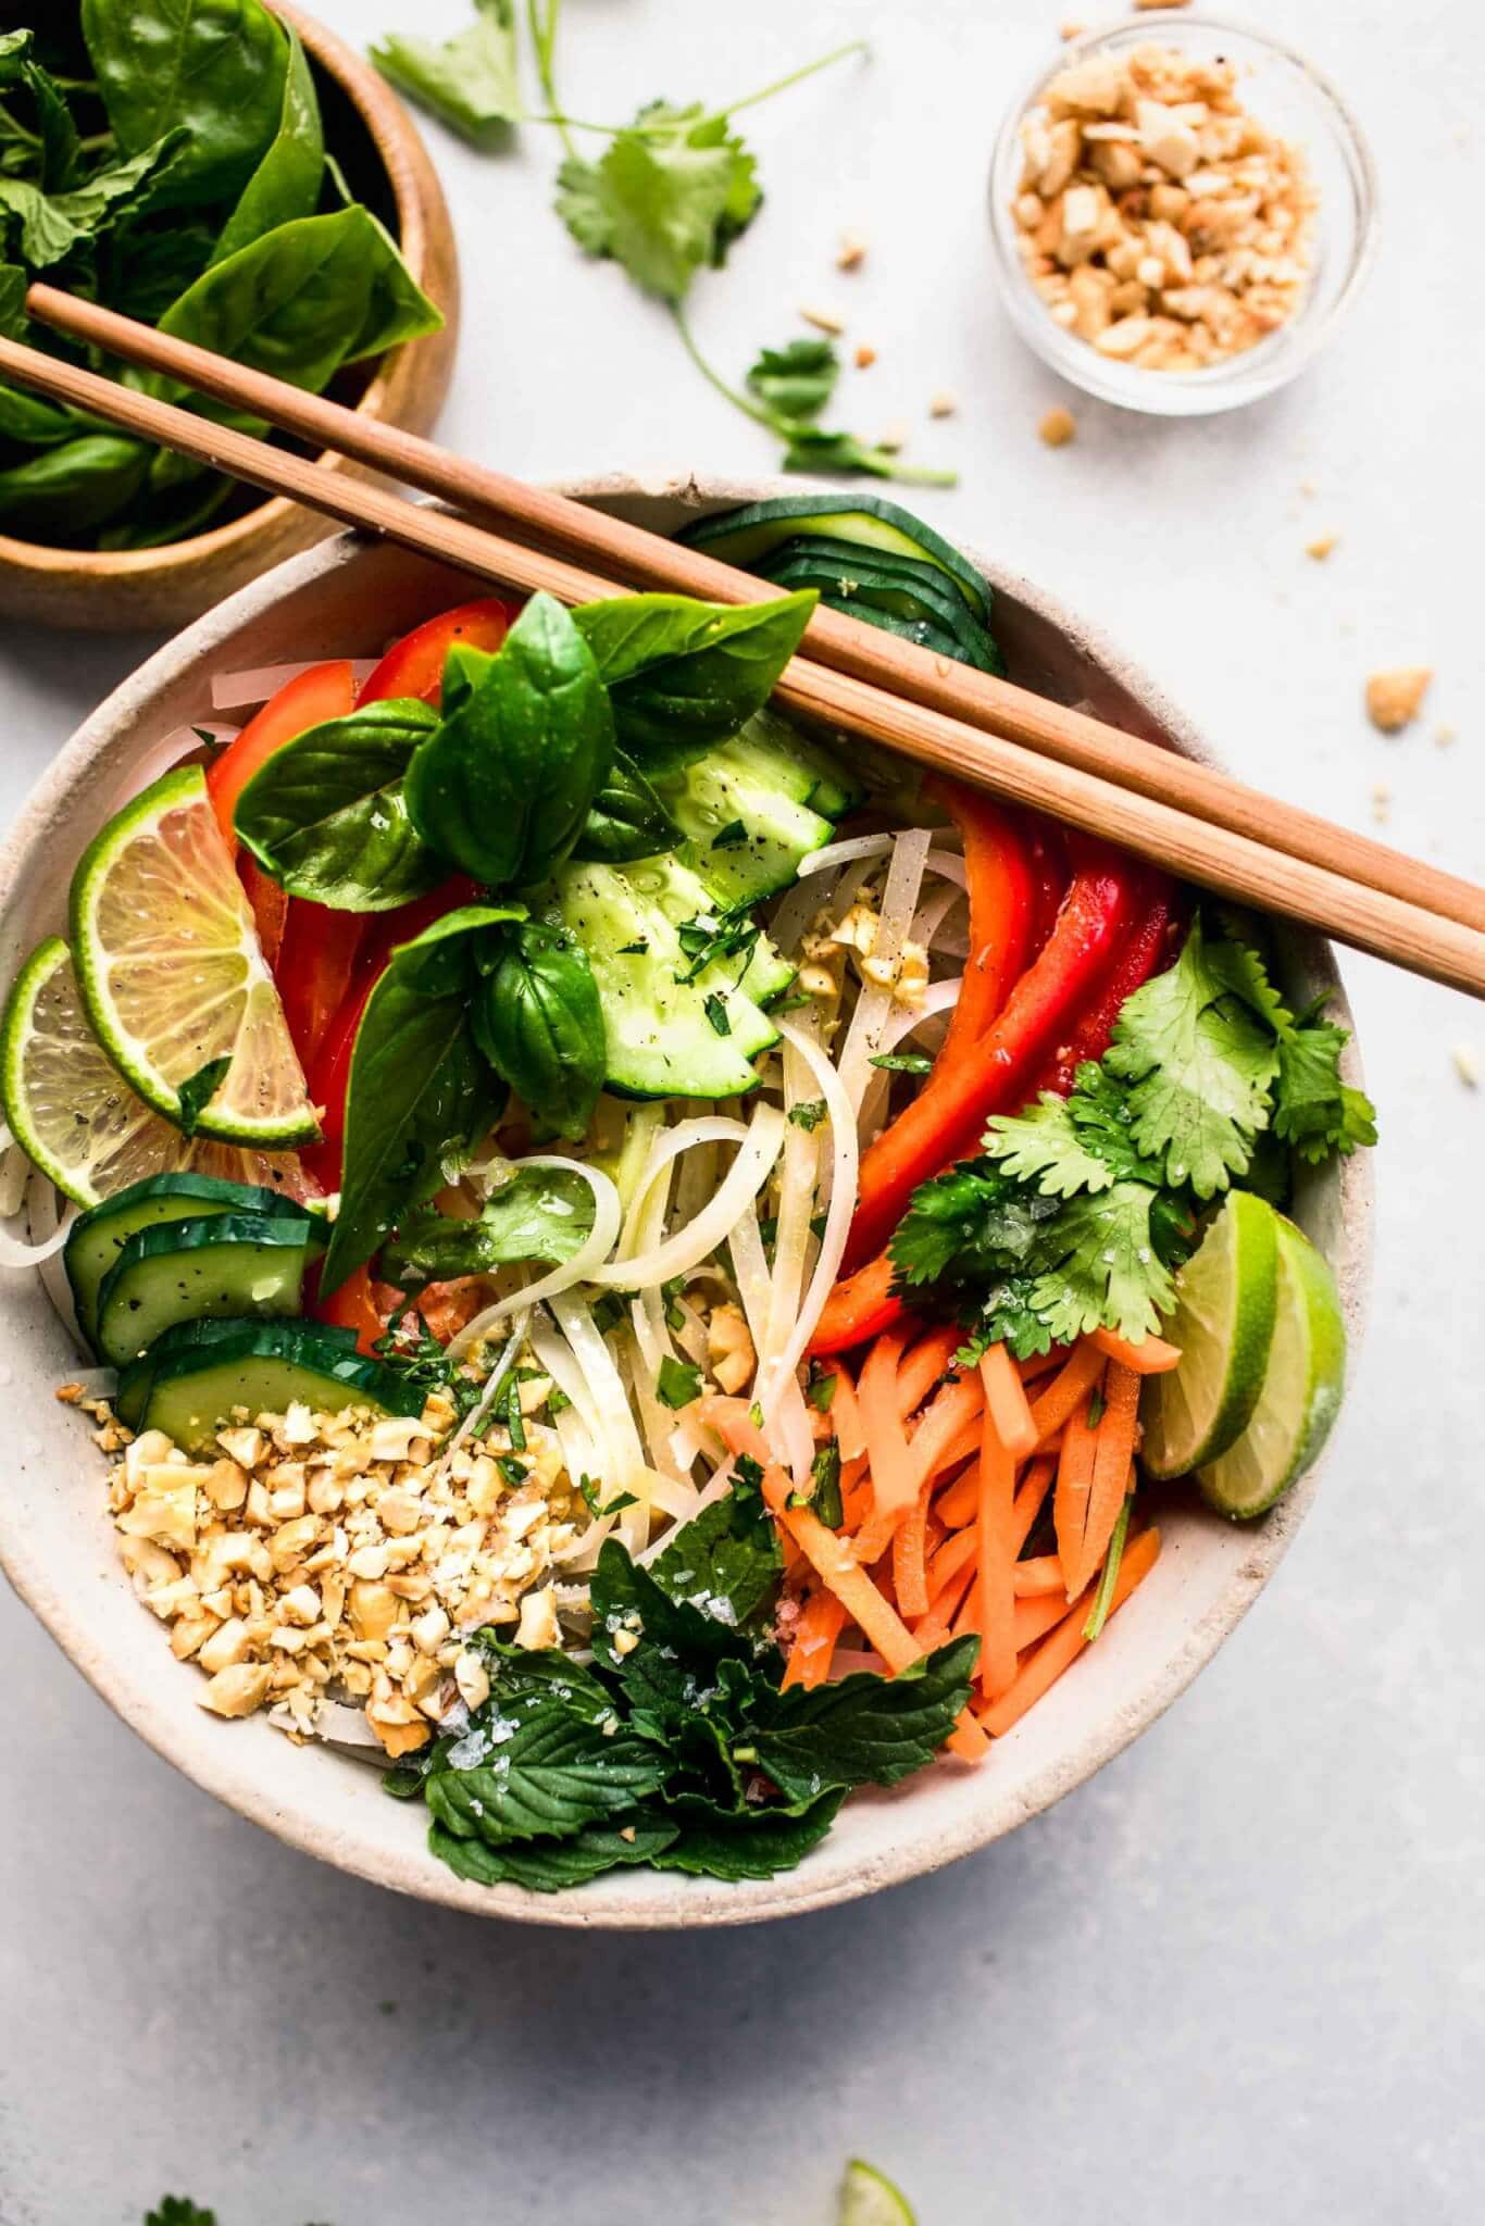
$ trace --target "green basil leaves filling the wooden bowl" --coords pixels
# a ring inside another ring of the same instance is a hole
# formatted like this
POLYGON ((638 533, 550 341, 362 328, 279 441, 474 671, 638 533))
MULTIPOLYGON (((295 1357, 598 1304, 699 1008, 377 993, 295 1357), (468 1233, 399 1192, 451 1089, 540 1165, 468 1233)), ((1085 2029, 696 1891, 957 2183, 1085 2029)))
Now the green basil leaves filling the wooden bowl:
MULTIPOLYGON (((303 45, 263 0, 82 0, 56 13, 76 36, 0 36, 0 329, 22 325, 24 285, 45 272, 312 392, 439 329, 392 236, 345 203, 303 45)), ((76 354, 56 336, 45 345, 76 354)), ((125 376, 227 416, 158 376, 125 376)), ((252 501, 205 465, 4 390, 4 532, 156 548, 252 501)))

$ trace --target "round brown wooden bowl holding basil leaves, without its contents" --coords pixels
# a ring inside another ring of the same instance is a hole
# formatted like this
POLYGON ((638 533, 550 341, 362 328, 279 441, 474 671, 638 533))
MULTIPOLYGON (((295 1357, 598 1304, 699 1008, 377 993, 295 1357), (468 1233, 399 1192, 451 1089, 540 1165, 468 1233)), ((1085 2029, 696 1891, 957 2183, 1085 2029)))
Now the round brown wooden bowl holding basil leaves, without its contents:
MULTIPOLYGON (((407 341, 370 367, 356 407, 407 432, 432 432, 459 341, 459 254, 443 187, 412 116, 385 78, 303 9, 287 0, 272 0, 272 7, 305 42, 330 145, 343 160, 350 151, 352 174, 365 174, 363 198, 383 203, 376 214, 401 240, 416 283, 443 309, 443 332, 407 341)), ((321 456, 321 463, 372 476, 343 456, 321 456)), ((105 634, 189 626, 223 597, 334 530, 330 519, 274 496, 227 525, 158 550, 58 550, 0 534, 0 614, 105 634)))

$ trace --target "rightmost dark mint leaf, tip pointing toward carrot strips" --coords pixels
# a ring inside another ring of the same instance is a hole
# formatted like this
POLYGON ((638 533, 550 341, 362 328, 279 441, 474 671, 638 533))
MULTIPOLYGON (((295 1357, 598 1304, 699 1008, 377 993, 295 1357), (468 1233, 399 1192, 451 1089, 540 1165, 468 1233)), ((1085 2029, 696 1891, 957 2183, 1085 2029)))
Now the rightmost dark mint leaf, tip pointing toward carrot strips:
POLYGON ((826 1787, 897 1785, 933 1761, 968 1705, 977 1638, 955 1638, 897 1676, 773 1694, 748 1727, 759 1770, 790 1801, 826 1787))

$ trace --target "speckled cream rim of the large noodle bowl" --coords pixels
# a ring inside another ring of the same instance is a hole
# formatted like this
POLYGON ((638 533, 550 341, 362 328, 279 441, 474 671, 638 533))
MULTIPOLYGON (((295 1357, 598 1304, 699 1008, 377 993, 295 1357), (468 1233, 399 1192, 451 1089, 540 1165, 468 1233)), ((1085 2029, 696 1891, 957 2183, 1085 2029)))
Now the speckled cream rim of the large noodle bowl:
MULTIPOLYGON (((632 499, 679 499, 681 503, 699 510, 732 508, 744 501, 764 501, 775 494, 839 492, 837 487, 799 479, 728 481, 721 476, 712 479, 699 474, 599 474, 568 479, 557 485, 561 492, 579 501, 623 503, 632 499)), ((98 710, 78 728, 71 741, 67 741, 51 761, 20 808, 4 844, 0 844, 0 913, 7 908, 24 870, 31 844, 51 824, 56 824, 58 808, 69 799, 73 784, 87 775, 96 757, 107 755, 111 735, 131 719, 138 703, 149 699, 171 679, 196 670, 205 659, 209 659, 216 637, 232 634, 243 623, 260 619, 287 594, 312 590, 321 579, 327 579, 341 565, 354 563, 361 554, 374 554, 374 543, 363 541, 354 532, 343 532, 303 550, 296 556, 289 556, 285 563, 265 572, 247 588, 227 597, 205 617, 183 628, 171 641, 156 650, 125 681, 120 681, 120 686, 98 706, 98 710)), ((1209 746, 1202 741, 1191 721, 1176 710, 1164 692, 1138 666, 1113 650, 1113 646, 1107 643, 1095 628, 1089 628, 1055 597, 1035 588, 1017 572, 1011 572, 1004 565, 984 563, 973 543, 968 543, 968 554, 982 563, 997 592, 1015 599, 1035 619, 1055 628, 1058 634, 1064 637, 1080 654, 1093 659, 1102 672, 1113 677, 1118 686, 1127 688, 1131 697, 1138 699, 1140 710, 1149 719, 1158 721, 1162 732, 1182 752, 1202 764, 1216 764, 1209 746)), ((1334 1013, 1343 1024, 1349 1024, 1351 1013, 1329 944, 1320 937, 1300 935, 1296 937, 1296 948, 1305 953, 1316 977, 1331 986, 1334 1013)), ((1347 1077, 1354 1082, 1360 1080, 1356 1042, 1349 1046, 1347 1077)), ((1369 1155, 1358 1153, 1343 1160, 1336 1180, 1340 1211, 1334 1269, 1347 1313, 1354 1358, 1365 1322, 1371 1271, 1374 1178, 1369 1155)), ((87 1447, 85 1458, 91 1460, 91 1447, 87 1447)), ((701 1930, 712 1925, 757 1923, 775 1917, 799 1917, 810 1910, 859 1899, 886 1885, 899 1885, 908 1879, 926 1877, 964 1854, 973 1854, 980 1848, 991 1845, 991 1841, 1015 1830, 1015 1825, 1024 1823, 1029 1816, 1053 1808, 1064 1794, 1073 1792, 1107 1761, 1131 1745, 1140 1732, 1149 1730, 1149 1725, 1164 1714, 1198 1670, 1207 1665, 1222 1641, 1236 1629, 1287 1554, 1294 1534, 1305 1520, 1305 1514, 1318 1491, 1320 1476, 1325 1474, 1327 1458, 1329 1451, 1287 1494, 1287 1498, 1280 1500, 1267 1518, 1262 1518, 1260 1525, 1253 1525, 1242 1534, 1245 1552, 1233 1558, 1233 1567, 1225 1576, 1220 1594, 1207 1614, 1184 1627, 1173 1652, 1160 1652, 1155 1656, 1149 1674, 1142 1676, 1133 1701, 1129 1701, 1118 1716, 1104 1718, 1102 1723, 1095 1721, 1091 1730, 1078 1734, 1069 1745, 1060 1747, 1031 1779, 1022 1783, 1022 1792, 1015 1803, 1002 1801, 997 1808, 982 1805, 980 1810, 966 1805, 951 1830, 937 1830, 935 1834, 926 1834, 922 1830, 913 1834, 911 1828, 904 1828, 884 1854, 868 1861, 857 1859, 853 1863, 842 1852, 835 1852, 833 1859, 833 1834, 799 1870, 784 1872, 775 1879, 737 1883, 668 1879, 666 1885, 670 1892, 663 1897, 657 1894, 655 1899, 637 1899, 632 1894, 632 1883, 643 1879, 643 1872, 614 1872, 612 1877, 597 1879, 581 1890, 559 1894, 537 1894, 517 1885, 472 1885, 436 1863, 423 1848, 421 1834, 410 1834, 407 1845, 372 1845, 370 1841, 356 1841, 354 1836, 338 1832, 323 1816, 316 1816, 314 1794, 289 1803, 274 1796, 265 1787, 247 1785, 234 1765, 232 1741, 209 1741, 205 1756, 183 1756, 171 1725, 171 1712, 142 1692, 136 1678, 131 1678, 129 1654, 109 1654, 94 1641, 82 1605, 76 1596, 58 1589, 49 1567, 45 1565, 42 1552, 33 1547, 24 1523, 13 1518, 13 1503, 4 1494, 0 1494, 0 1569, 4 1569, 11 1587, 49 1629, 73 1667, 82 1672, 109 1707, 114 1707, 114 1712, 134 1732, 138 1732, 156 1754, 183 1770, 185 1776, 220 1799, 227 1808, 247 1816, 252 1823, 263 1825, 287 1845, 305 1854, 314 1854, 352 1877, 367 1879, 374 1885, 387 1885, 392 1890, 407 1892, 414 1899, 468 1910, 479 1917, 503 1917, 521 1923, 579 1930, 701 1930)), ((125 1580, 122 1565, 118 1565, 118 1574, 120 1580, 125 1580)), ((142 1629, 140 1636, 149 1641, 151 1634, 142 1629)), ((269 1732, 267 1736, 278 1739, 281 1734, 269 1732)), ((1013 1732, 1011 1739, 1015 1736, 1017 1734, 1013 1732)), ((902 1787, 899 1794, 902 1792, 906 1792, 906 1787, 902 1787)), ((866 1794, 857 1799, 871 1801, 884 1796, 866 1794)), ((893 1801, 897 1796, 886 1799, 893 1801)), ((392 1814, 401 1814, 401 1805, 396 1803, 387 1803, 387 1810, 392 1814)))

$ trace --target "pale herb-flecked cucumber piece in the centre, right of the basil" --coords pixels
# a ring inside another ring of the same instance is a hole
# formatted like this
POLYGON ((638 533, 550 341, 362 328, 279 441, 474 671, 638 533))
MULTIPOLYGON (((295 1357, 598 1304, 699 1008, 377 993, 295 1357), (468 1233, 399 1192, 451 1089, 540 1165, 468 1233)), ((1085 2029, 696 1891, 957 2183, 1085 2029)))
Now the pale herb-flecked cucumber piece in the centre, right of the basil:
POLYGON ((612 1091, 737 1097, 757 1086, 753 1060, 779 1037, 737 988, 737 959, 684 979, 692 959, 677 924, 708 910, 706 890, 677 859, 563 866, 557 877, 552 913, 583 944, 603 997, 612 1091))

